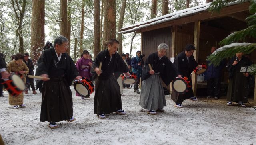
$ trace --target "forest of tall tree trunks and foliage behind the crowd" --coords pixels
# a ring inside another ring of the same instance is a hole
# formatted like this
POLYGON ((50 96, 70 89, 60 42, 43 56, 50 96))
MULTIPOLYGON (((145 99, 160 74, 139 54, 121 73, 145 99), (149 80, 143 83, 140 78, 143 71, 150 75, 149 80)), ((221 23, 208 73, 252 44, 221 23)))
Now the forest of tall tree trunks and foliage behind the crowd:
MULTIPOLYGON (((207 1, 210 2, 210 1, 207 1)), ((205 4, 205 0, 0 0, 0 52, 6 56, 30 53, 38 60, 46 41, 58 35, 70 40, 74 61, 83 50, 94 57, 110 38, 118 39, 118 53, 135 56, 140 34, 116 34, 122 27, 205 4)))

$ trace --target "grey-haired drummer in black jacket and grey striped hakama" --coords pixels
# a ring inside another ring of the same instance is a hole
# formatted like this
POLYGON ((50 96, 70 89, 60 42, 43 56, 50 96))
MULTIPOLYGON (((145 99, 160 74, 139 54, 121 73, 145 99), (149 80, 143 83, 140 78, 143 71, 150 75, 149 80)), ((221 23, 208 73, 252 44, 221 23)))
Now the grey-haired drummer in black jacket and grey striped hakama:
POLYGON ((168 45, 161 43, 157 48, 157 52, 148 56, 142 71, 139 104, 148 110, 148 114, 155 115, 156 110, 164 111, 166 100, 162 81, 168 86, 175 77, 181 78, 172 62, 166 57, 167 49, 169 49, 168 45), (148 64, 152 66, 153 70, 149 69, 148 64))

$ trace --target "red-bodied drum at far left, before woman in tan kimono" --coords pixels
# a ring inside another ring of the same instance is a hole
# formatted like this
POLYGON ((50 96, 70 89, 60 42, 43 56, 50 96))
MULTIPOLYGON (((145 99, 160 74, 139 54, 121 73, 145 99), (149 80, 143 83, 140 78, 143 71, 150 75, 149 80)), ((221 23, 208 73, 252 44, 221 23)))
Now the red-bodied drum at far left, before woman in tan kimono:
POLYGON ((4 85, 4 88, 14 97, 18 96, 26 89, 24 81, 16 74, 11 74, 9 80, 3 81, 2 84, 4 85))

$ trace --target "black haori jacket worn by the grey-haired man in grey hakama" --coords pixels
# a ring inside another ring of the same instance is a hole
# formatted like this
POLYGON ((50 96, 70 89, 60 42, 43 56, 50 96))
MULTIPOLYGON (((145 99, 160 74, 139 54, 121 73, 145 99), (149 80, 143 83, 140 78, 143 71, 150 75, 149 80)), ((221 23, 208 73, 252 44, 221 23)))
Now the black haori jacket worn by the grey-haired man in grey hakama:
POLYGON ((163 56, 161 60, 159 60, 158 52, 156 52, 150 54, 146 59, 141 80, 146 80, 151 76, 151 74, 149 74, 150 69, 148 64, 152 66, 155 73, 159 73, 160 77, 167 86, 170 84, 170 82, 172 82, 172 80, 174 80, 175 77, 178 76, 178 71, 172 62, 166 56, 163 56))

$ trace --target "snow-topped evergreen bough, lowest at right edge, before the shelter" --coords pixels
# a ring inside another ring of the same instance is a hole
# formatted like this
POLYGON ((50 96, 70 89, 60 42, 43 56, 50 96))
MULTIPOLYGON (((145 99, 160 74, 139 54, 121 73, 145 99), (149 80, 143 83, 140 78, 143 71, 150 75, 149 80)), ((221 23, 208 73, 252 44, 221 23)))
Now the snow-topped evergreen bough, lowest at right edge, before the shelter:
POLYGON ((214 53, 208 56, 207 61, 210 61, 210 64, 214 66, 218 66, 224 58, 234 57, 238 52, 250 54, 255 49, 256 43, 232 43, 214 51, 214 53))

